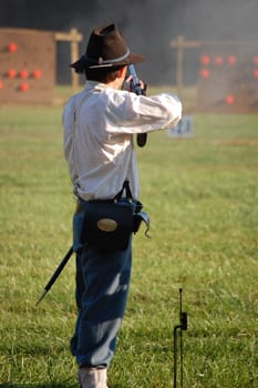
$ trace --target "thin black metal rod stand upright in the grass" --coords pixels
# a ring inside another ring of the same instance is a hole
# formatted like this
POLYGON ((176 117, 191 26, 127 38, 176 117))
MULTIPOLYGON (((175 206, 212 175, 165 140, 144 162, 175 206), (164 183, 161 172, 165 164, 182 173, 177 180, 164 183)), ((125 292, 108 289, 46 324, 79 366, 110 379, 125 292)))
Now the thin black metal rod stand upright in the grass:
POLYGON ((179 330, 180 388, 183 388, 183 330, 187 330, 187 313, 182 312, 182 288, 179 288, 179 325, 174 326, 174 388, 177 387, 177 330, 179 330))

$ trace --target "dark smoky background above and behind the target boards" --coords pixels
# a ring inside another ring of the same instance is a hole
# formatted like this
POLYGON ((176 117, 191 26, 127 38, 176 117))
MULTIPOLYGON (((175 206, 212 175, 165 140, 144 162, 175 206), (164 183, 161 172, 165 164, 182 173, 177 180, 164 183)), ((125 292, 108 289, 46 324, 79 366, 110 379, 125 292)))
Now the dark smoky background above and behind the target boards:
MULTIPOLYGON (((149 84, 175 82, 175 50, 171 40, 257 40, 257 0, 1 0, 0 25, 69 31, 87 38, 96 25, 115 22, 134 52, 146 61, 138 72, 149 84), (61 4, 60 4, 61 3, 61 4)), ((196 52, 188 50, 186 80, 196 76, 196 52)), ((70 76, 69 48, 58 51, 59 79, 70 76)))

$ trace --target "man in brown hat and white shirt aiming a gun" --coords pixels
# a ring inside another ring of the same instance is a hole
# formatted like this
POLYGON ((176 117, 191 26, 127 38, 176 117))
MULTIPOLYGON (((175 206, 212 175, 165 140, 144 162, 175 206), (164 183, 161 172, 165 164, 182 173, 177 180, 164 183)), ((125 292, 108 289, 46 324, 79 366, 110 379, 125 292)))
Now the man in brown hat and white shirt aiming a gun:
MULTIPOLYGON (((109 251, 103 249, 102 242, 97 244, 97 237, 95 245, 86 242, 87 205, 95 204, 96 212, 101 203, 112 205, 118 193, 120 200, 124 196, 122 187, 126 196, 136 201, 133 135, 175 126, 182 114, 175 95, 130 92, 131 82, 125 82, 127 65, 143 60, 130 52, 121 32, 111 24, 94 29, 86 52, 71 64, 86 78, 85 89, 73 95, 63 111, 64 155, 79 202, 74 215, 79 314, 71 351, 79 365, 82 388, 107 387, 106 370, 124 316, 132 259, 130 236, 125 246, 109 251), (128 91, 122 90, 124 83, 128 91)), ((107 234, 114 225, 115 222, 104 225, 107 234)))

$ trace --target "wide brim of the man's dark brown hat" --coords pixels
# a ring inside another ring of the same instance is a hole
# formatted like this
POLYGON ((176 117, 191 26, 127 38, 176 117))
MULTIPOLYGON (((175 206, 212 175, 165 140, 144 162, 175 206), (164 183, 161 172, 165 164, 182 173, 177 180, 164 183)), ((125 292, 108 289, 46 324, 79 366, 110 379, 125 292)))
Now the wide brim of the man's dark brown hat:
POLYGON ((86 61, 83 57, 81 57, 78 61, 70 64, 71 68, 75 69, 76 71, 81 72, 83 69, 101 69, 101 68, 117 68, 117 67, 125 67, 128 64, 136 64, 141 63, 145 60, 145 57, 141 54, 135 54, 131 52, 125 59, 122 61, 113 61, 111 63, 92 63, 92 61, 86 61))

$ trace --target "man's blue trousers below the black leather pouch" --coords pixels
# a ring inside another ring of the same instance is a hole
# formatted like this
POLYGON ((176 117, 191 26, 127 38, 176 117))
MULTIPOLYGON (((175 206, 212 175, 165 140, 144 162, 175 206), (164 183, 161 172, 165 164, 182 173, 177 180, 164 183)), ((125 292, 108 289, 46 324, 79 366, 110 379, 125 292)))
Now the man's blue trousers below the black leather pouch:
POLYGON ((76 256, 78 319, 71 353, 79 366, 107 368, 124 316, 132 267, 132 242, 121 252, 85 246, 76 256))

